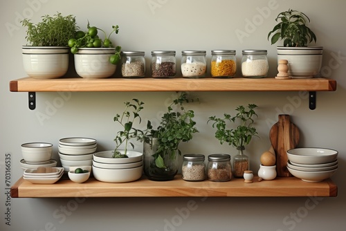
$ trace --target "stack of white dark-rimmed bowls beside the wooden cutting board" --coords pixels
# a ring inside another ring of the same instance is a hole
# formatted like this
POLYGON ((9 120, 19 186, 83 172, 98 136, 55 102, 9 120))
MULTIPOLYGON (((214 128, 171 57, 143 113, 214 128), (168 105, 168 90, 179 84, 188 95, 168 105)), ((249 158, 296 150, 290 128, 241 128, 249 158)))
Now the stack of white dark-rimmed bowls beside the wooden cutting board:
POLYGON ((302 181, 319 182, 338 169, 338 151, 324 148, 296 148, 287 151, 287 169, 302 181))

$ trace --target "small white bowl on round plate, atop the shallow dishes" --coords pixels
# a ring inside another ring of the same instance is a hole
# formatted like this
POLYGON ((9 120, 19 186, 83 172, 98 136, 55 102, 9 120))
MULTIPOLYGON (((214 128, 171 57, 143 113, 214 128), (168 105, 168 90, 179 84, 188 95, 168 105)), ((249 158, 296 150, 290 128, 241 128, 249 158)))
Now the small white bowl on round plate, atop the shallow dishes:
POLYGON ((48 142, 28 142, 21 145, 21 168, 55 167, 57 160, 52 159, 53 145, 48 142))

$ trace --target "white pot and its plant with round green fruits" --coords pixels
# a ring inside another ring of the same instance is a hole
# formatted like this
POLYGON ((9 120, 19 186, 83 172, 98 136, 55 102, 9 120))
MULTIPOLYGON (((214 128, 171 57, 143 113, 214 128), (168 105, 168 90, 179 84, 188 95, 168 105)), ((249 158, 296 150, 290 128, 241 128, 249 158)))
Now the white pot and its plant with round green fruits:
POLYGON ((78 30, 75 37, 69 39, 71 53, 75 57, 75 71, 80 77, 98 79, 110 77, 116 72, 116 64, 120 61, 120 46, 113 46, 111 35, 118 34, 119 26, 112 26, 111 33, 101 28, 90 26, 87 30, 78 30), (103 39, 99 35, 103 33, 103 39))

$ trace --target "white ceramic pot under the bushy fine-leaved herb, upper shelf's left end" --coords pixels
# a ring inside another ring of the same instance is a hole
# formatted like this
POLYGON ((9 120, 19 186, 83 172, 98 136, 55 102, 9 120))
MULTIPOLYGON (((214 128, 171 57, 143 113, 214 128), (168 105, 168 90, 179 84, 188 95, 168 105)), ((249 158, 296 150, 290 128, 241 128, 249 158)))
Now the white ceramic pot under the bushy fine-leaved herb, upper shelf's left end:
POLYGON ((69 69, 67 46, 22 46, 24 70, 29 77, 55 79, 69 69))

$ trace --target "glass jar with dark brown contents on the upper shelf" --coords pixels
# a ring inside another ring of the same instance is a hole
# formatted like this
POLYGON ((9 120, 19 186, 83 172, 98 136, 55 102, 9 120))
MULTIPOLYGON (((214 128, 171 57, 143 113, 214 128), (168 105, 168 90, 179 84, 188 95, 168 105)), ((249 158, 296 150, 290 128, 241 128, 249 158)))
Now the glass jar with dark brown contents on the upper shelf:
POLYGON ((174 50, 152 51, 152 77, 174 77, 176 75, 176 58, 174 50))

